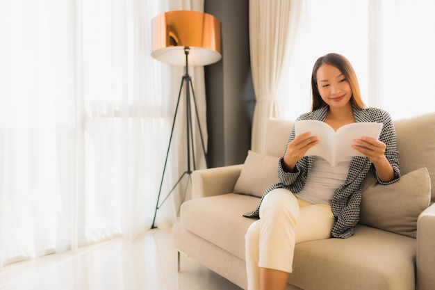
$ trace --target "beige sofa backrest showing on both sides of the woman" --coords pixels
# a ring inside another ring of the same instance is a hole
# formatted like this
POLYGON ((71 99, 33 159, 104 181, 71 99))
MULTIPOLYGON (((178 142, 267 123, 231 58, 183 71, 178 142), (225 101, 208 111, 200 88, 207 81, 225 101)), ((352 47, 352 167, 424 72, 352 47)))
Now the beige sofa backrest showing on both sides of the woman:
MULTIPOLYGON (((435 180, 435 113, 395 120, 394 124, 402 175, 425 167, 432 181, 435 180)), ((290 120, 268 120, 264 154, 282 156, 292 127, 293 121, 290 120)), ((435 186, 432 186, 431 191, 433 203, 435 186)))

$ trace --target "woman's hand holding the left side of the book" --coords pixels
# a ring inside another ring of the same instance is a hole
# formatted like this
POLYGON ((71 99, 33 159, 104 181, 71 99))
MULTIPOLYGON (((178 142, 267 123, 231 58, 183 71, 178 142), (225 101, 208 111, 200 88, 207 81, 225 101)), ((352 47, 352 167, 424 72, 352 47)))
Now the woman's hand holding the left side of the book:
POLYGON ((319 143, 317 136, 310 136, 310 132, 305 132, 296 136, 293 141, 288 143, 286 154, 284 155, 284 166, 290 172, 295 170, 296 162, 314 145, 319 143))

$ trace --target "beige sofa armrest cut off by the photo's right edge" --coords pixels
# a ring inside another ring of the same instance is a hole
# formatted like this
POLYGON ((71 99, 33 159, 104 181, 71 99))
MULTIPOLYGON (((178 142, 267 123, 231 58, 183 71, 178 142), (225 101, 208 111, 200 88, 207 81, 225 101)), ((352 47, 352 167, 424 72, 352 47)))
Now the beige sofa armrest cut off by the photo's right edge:
POLYGON ((435 204, 425 209, 417 221, 417 289, 435 285, 435 204))

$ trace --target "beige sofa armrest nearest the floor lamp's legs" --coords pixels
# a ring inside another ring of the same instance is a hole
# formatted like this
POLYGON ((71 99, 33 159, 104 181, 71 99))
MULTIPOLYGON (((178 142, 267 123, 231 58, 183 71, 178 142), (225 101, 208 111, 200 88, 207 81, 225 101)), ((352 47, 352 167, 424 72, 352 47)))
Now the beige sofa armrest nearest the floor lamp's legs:
POLYGON ((232 193, 243 164, 195 170, 192 172, 192 198, 232 193))

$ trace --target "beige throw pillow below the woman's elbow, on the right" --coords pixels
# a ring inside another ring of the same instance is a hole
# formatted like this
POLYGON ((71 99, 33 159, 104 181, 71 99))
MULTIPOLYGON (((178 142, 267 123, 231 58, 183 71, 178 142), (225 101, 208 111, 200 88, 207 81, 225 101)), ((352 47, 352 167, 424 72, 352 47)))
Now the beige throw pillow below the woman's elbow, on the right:
POLYGON ((382 185, 373 175, 364 180, 360 223, 416 238, 417 219, 429 206, 431 180, 426 168, 382 185))

